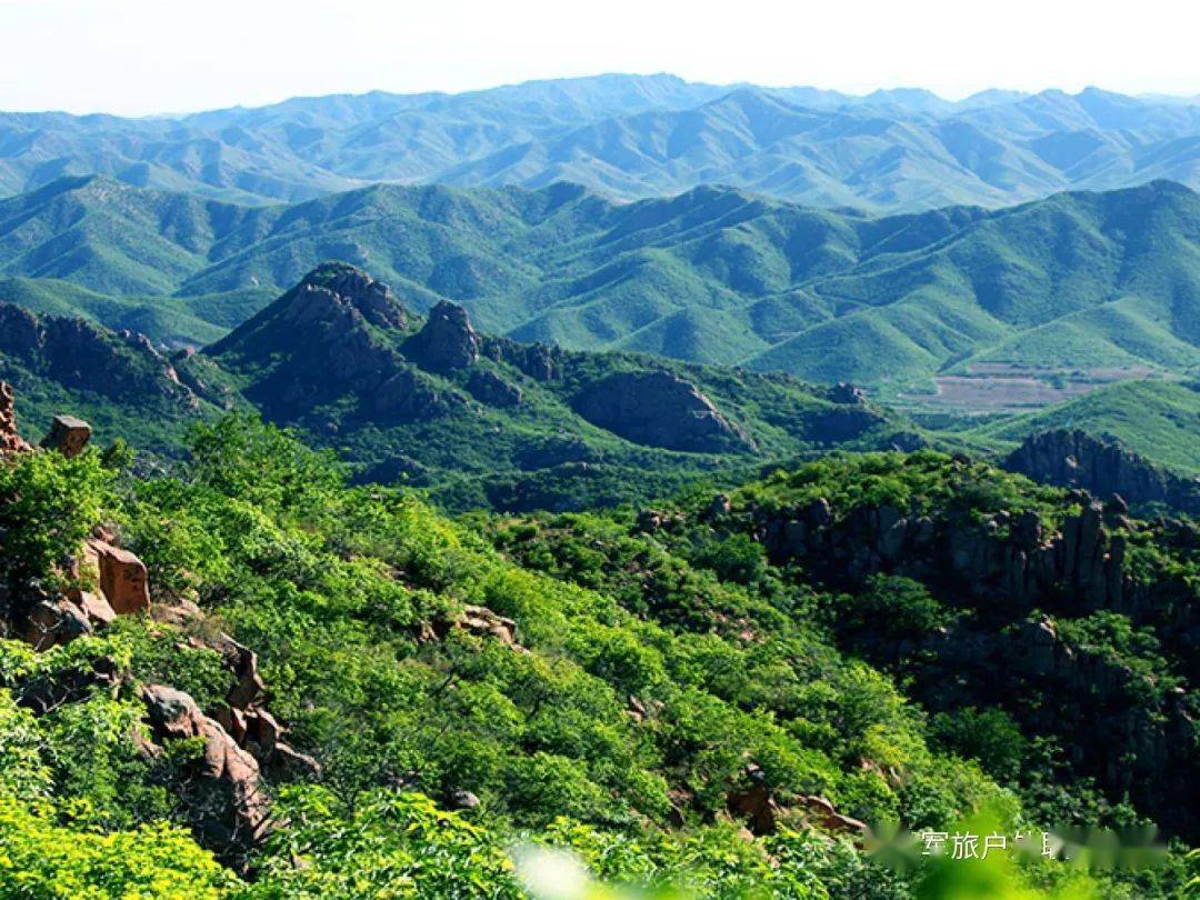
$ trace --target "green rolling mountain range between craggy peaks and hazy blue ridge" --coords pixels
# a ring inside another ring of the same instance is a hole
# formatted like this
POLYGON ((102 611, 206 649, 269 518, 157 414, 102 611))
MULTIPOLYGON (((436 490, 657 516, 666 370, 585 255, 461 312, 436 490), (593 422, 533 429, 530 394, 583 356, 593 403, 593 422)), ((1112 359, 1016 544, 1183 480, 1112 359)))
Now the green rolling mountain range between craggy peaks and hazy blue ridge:
POLYGON ((244 206, 88 176, 0 200, 0 300, 158 342, 209 343, 326 259, 520 341, 890 391, 1200 365, 1200 196, 1169 181, 893 216, 566 184, 244 206))

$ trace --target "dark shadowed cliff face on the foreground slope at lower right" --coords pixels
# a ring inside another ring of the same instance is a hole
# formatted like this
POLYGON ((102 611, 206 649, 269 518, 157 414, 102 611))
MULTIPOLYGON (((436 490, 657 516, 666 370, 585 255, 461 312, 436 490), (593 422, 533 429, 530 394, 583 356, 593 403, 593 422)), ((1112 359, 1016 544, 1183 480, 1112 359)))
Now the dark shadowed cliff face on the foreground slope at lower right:
POLYGON ((1033 512, 1002 510, 974 521, 892 505, 839 510, 824 499, 748 512, 756 538, 776 563, 799 562, 834 586, 862 584, 875 572, 908 575, 941 586, 946 596, 979 611, 977 618, 929 636, 925 646, 881 653, 898 660, 918 650, 934 654, 954 677, 970 672, 992 685, 997 703, 1037 683, 1038 695, 1054 701, 1018 710, 1033 733, 1066 728, 1073 761, 1103 786, 1117 794, 1129 792, 1172 821, 1194 824, 1194 810, 1181 800, 1200 784, 1188 749, 1192 713, 1182 691, 1165 694, 1147 709, 1144 701, 1133 701, 1145 694, 1141 676, 1111 654, 1066 644, 1051 619, 1004 630, 983 624, 1020 623, 1034 610, 1042 617, 1066 618, 1112 611, 1135 625, 1157 623, 1160 638, 1174 646, 1200 646, 1194 590, 1178 586, 1164 592, 1130 566, 1141 533, 1156 544, 1200 548, 1195 527, 1130 520, 1118 496, 1100 503, 1079 491, 1073 499, 1080 511, 1052 530, 1033 512))

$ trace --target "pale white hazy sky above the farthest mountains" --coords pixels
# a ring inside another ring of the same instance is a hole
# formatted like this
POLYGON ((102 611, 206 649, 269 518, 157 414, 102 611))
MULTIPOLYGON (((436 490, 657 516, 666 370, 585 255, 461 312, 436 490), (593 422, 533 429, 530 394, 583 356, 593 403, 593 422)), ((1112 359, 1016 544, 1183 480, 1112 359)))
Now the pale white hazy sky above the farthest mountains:
POLYGON ((145 114, 595 74, 1200 94, 1200 0, 0 0, 0 109, 145 114))

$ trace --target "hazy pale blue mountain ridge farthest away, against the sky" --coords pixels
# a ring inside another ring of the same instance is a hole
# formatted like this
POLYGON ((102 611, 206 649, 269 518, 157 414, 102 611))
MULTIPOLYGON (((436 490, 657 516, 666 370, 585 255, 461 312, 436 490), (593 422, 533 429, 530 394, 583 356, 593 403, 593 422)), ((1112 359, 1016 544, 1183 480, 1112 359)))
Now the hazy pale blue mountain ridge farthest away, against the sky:
POLYGON ((568 180, 617 199, 728 184, 827 208, 1002 206, 1153 179, 1200 187, 1200 104, 1094 88, 952 102, 611 74, 174 118, 0 113, 0 194, 85 174, 240 203, 380 181, 568 180))

